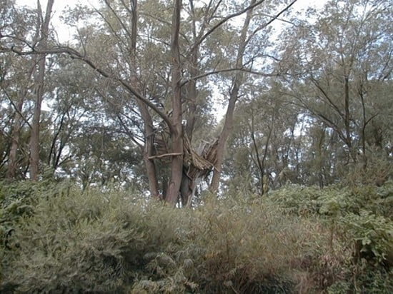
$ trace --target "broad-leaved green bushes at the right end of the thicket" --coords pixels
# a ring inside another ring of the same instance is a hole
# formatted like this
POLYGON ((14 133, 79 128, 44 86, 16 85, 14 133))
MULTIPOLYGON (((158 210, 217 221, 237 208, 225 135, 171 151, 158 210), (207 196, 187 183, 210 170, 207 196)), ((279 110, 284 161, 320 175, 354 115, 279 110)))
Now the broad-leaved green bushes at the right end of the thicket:
POLYGON ((340 280, 334 287, 350 289, 357 285, 366 291, 374 288, 392 290, 393 284, 385 280, 389 273, 392 274, 393 267, 391 181, 381 187, 337 186, 319 189, 287 186, 270 193, 269 202, 276 203, 294 216, 318 218, 332 230, 332 239, 337 238, 339 243, 352 248, 352 257, 347 260, 346 275, 351 275, 351 279, 357 280, 357 283, 340 280), (382 278, 376 277, 374 282, 380 283, 371 285, 369 280, 374 275, 381 275, 382 278))

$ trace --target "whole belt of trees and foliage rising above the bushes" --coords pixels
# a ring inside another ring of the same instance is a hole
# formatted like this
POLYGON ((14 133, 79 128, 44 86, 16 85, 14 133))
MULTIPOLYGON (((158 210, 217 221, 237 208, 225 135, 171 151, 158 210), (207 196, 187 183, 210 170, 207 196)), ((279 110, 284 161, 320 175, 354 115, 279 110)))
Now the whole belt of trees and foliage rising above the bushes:
POLYGON ((304 17, 296 2, 105 0, 64 11, 61 43, 56 1, 2 0, 1 176, 50 171, 181 206, 207 188, 387 181, 389 1, 304 17))

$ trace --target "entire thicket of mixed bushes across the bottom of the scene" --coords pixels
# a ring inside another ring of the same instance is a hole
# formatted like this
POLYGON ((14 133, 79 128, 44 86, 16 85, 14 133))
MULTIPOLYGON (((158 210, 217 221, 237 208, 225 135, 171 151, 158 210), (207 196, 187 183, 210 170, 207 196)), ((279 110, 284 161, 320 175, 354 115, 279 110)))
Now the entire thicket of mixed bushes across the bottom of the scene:
POLYGON ((207 195, 0 183, 1 293, 393 293, 393 183, 207 195))

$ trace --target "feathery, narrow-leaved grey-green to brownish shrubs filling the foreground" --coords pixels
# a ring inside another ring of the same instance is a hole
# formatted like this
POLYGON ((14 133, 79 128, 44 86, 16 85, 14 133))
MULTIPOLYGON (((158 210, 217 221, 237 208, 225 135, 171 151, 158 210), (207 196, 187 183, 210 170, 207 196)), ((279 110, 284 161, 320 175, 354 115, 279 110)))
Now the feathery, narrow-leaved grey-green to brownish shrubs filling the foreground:
POLYGON ((260 199, 177 210, 131 191, 62 191, 36 190, 14 222, 1 291, 288 293, 326 286, 310 270, 339 275, 329 230, 260 199))

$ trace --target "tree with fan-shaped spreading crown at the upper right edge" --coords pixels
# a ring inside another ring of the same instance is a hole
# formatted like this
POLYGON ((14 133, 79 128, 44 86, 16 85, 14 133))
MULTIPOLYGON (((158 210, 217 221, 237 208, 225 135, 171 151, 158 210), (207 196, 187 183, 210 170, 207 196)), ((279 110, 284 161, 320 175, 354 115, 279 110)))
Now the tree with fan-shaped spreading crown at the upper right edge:
POLYGON ((281 64, 294 103, 337 133, 347 162, 361 154, 364 168, 367 129, 384 98, 375 93, 392 73, 390 13, 386 1, 330 1, 315 24, 289 31, 281 64))

